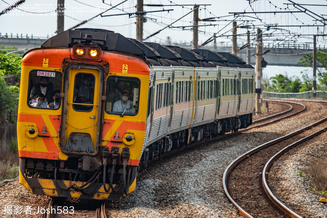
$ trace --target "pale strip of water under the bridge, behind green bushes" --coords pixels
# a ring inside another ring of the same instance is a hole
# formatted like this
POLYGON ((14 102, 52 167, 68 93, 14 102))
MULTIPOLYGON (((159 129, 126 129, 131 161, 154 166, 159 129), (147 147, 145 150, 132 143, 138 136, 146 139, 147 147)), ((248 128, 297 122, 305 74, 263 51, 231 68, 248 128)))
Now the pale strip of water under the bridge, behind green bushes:
MULTIPOLYGON (((301 78, 301 72, 306 73, 309 75, 309 77, 312 78, 313 75, 313 69, 312 67, 295 67, 295 66, 276 66, 276 65, 267 65, 266 68, 263 68, 262 75, 264 79, 268 79, 272 76, 282 74, 287 75, 288 78, 291 78, 293 76, 298 76, 301 78)), ((318 70, 317 70, 318 73, 318 70)))

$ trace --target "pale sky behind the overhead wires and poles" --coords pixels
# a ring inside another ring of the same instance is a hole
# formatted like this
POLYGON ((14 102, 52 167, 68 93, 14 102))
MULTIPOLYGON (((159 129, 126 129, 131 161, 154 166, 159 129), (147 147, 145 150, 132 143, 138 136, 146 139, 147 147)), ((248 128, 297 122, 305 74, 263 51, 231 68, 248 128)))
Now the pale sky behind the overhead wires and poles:
MULTIPOLYGON (((15 3, 17 0, 0 0, 0 8, 3 10, 8 7, 10 4, 15 3), (8 4, 9 5, 8 5, 8 4)), ((67 30, 77 24, 79 24, 83 20, 89 20, 90 18, 100 14, 101 12, 111 8, 114 5, 121 3, 123 0, 65 0, 65 17, 64 17, 64 29, 67 30), (110 6, 112 5, 112 6, 110 6)), ((295 1, 295 0, 294 0, 295 1)), ((123 4, 117 6, 117 8, 113 8, 109 10, 103 15, 113 15, 113 14, 121 14, 126 12, 135 12, 137 0, 127 0, 123 4)), ((318 21, 313 21, 314 19, 309 15, 303 12, 295 12, 299 11, 299 9, 294 8, 293 5, 285 5, 283 3, 291 3, 289 0, 251 0, 251 4, 249 4, 248 0, 230 0, 230 1, 222 1, 222 0, 201 0, 190 2, 189 0, 144 0, 144 4, 163 4, 167 6, 163 7, 148 7, 144 6, 144 10, 147 12, 153 10, 167 10, 173 9, 172 11, 161 11, 161 12, 153 12, 147 13, 146 23, 144 23, 144 34, 143 38, 151 35, 152 33, 166 27, 167 25, 175 22, 177 19, 180 19, 182 16, 189 13, 193 6, 176 6, 183 4, 208 4, 207 6, 201 5, 199 11, 199 18, 210 18, 215 17, 211 22, 199 22, 200 26, 199 30, 199 44, 201 42, 205 42, 215 33, 219 32, 216 36, 217 45, 231 45, 231 29, 232 25, 228 25, 232 22, 234 18, 233 14, 229 14, 229 12, 259 12, 259 11, 293 11, 294 13, 252 13, 252 14, 244 14, 247 17, 236 17, 235 21, 240 26, 248 25, 252 26, 252 28, 238 28, 237 34, 245 34, 247 30, 250 30, 253 33, 251 36, 254 39, 257 28, 260 27, 263 29, 264 34, 272 34, 274 35, 274 39, 281 40, 296 40, 300 43, 312 43, 312 36, 304 36, 304 38, 295 39, 294 37, 287 37, 288 32, 296 32, 301 34, 317 34, 319 32, 324 32, 323 26, 318 21), (271 2, 271 3, 269 3, 271 2), (211 5, 210 5, 211 4, 211 5), (276 6, 276 7, 275 7, 276 6), (287 8, 288 7, 288 8, 287 8), (282 9, 280 9, 282 8, 282 9), (286 8, 286 10, 284 9, 286 8), (253 9, 253 10, 252 10, 253 9), (256 17, 257 16, 257 17, 256 17), (219 18, 217 18, 219 17, 219 18), (260 22, 259 19, 262 20, 260 22), (227 20, 227 21, 225 21, 227 20), (242 21, 240 21, 242 20, 242 21), (247 21, 243 21, 247 20, 247 21), (275 27, 267 30, 265 25, 278 24, 278 25, 316 25, 316 26, 297 26, 297 27, 275 27), (253 25, 256 25, 253 28, 253 25), (319 28, 319 30, 317 30, 319 28), (229 37, 228 37, 229 35, 229 37)), ((299 0, 297 3, 301 4, 321 4, 327 5, 325 0, 315 0, 315 1, 307 1, 307 0, 299 0)), ((313 15, 318 18, 321 14, 325 14, 325 6, 303 6, 309 9, 310 11, 317 14, 313 15)), ((0 32, 1 36, 8 33, 10 36, 11 33, 15 37, 17 34, 20 36, 26 36, 26 34, 30 37, 33 34, 33 37, 51 37, 55 35, 55 31, 57 28, 57 17, 56 17, 56 8, 57 1, 45 1, 45 0, 26 0, 23 4, 21 4, 18 9, 14 9, 9 11, 6 14, 0 16, 0 32), (20 9, 20 10, 19 10, 20 9)), ((301 8, 300 8, 301 9, 301 8)), ((322 17, 322 16, 321 16, 322 17)), ((324 16, 327 17, 327 16, 324 16)), ((185 17, 181 18, 179 21, 174 23, 172 26, 190 26, 192 25, 193 12, 189 13, 185 17)), ((79 26, 82 27, 92 27, 92 28, 102 28, 112 30, 114 32, 118 32, 125 37, 136 38, 136 18, 135 16, 129 15, 120 15, 120 16, 108 16, 108 17, 95 17, 91 21, 87 22, 84 25, 79 26)), ((192 41, 192 31, 190 31, 192 27, 185 27, 182 30, 181 28, 166 28, 162 30, 159 34, 149 38, 147 41, 151 42, 161 42, 164 43, 167 40, 167 37, 171 38, 172 42, 185 42, 189 43, 192 41)), ((264 35, 264 39, 271 39, 264 35)), ((244 44, 246 40, 245 36, 238 37, 238 43, 240 45, 244 44)), ((264 43, 277 44, 277 43, 294 43, 292 41, 264 41, 264 43)), ((255 42, 254 42, 255 43, 255 42)), ((318 45, 323 46, 325 43, 322 37, 318 37, 318 45)))

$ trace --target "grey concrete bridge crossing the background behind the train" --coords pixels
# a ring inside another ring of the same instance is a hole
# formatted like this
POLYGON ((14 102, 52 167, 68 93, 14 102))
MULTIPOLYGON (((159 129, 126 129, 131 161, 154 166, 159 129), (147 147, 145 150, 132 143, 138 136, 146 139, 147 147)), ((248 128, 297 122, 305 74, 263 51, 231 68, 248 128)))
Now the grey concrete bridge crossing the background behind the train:
MULTIPOLYGON (((0 34, 0 45, 4 46, 16 46, 18 49, 31 49, 35 47, 40 47, 43 42, 45 42, 47 38, 33 38, 33 35, 26 37, 21 34, 18 36, 13 36, 12 34, 10 35, 1 35, 0 34)), ((192 49, 191 43, 172 43, 173 45, 177 45, 180 47, 185 47, 188 49, 192 49)), ((203 46, 203 49, 209 49, 213 50, 216 52, 230 52, 232 53, 232 47, 213 47, 213 46, 203 46)), ((263 48, 263 52, 266 51, 268 48, 263 48)), ((255 64, 255 54, 256 48, 251 48, 251 64, 255 64)), ((297 63, 300 62, 300 59, 303 58, 304 55, 312 55, 312 49, 297 49, 297 48, 275 48, 268 52, 267 54, 263 55, 263 58, 265 61, 268 62, 268 65, 281 65, 281 66, 301 66, 298 65, 297 63)), ((246 48, 239 51, 237 53, 237 56, 242 58, 243 60, 246 61, 246 48)))

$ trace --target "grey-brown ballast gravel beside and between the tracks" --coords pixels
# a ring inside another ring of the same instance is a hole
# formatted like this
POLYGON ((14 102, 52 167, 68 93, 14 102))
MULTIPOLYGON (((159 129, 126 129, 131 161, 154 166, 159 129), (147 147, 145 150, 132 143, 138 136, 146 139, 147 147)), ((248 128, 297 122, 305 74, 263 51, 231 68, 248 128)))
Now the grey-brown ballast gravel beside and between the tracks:
MULTIPOLYGON (((198 148, 152 163, 139 172, 135 192, 121 201, 109 202, 107 216, 112 218, 241 218, 238 210, 224 194, 222 187, 224 170, 230 162, 246 151, 327 116, 327 106, 299 102, 305 104, 307 109, 294 118, 251 129, 221 141, 203 144, 198 148)), ((253 119, 256 119, 255 116, 253 119)), ((310 148, 300 146, 296 152, 289 151, 288 153, 294 152, 300 155, 288 155, 280 161, 277 168, 280 170, 278 181, 281 183, 276 182, 275 186, 280 189, 279 196, 286 200, 296 199, 299 205, 308 211, 306 218, 327 217, 327 204, 314 203, 312 200, 317 200, 321 196, 312 191, 312 184, 306 178, 298 175, 298 172, 303 171, 305 164, 310 161, 308 155, 301 155, 302 153, 310 151, 312 154, 317 154, 320 149, 319 157, 327 156, 326 152, 321 152, 321 150, 326 151, 326 142, 322 135, 321 141, 324 143, 319 148, 313 143, 310 148), (301 147, 304 148, 303 151, 301 147), (301 159, 308 161, 301 161, 301 159), (313 215, 309 216, 309 214, 313 215)), ((310 143, 312 142, 306 144, 310 143)), ((49 197, 30 194, 18 181, 14 181, 0 187, 0 217, 41 217, 24 213, 7 216, 4 215, 3 210, 8 205, 23 208, 28 205, 37 209, 38 206, 44 207, 49 199, 49 197)))

